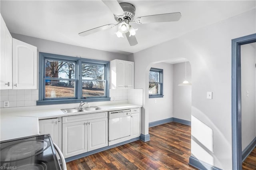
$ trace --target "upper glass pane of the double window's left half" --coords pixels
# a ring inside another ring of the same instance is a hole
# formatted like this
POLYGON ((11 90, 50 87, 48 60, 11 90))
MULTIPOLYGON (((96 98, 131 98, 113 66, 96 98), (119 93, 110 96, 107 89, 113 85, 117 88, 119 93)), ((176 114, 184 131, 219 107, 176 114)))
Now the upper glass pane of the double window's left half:
POLYGON ((45 77, 56 77, 64 79, 74 79, 75 77, 75 62, 45 60, 45 77))

